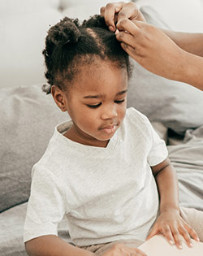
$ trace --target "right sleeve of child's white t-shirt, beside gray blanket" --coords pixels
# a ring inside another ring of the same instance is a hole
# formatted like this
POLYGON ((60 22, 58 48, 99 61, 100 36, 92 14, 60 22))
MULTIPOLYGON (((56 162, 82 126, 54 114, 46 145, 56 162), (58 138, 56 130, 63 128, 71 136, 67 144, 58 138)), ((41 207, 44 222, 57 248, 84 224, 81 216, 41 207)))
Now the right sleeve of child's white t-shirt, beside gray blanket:
MULTIPOLYGON (((148 120, 148 119, 147 119, 148 120)), ((148 120, 148 125, 151 133, 151 149, 148 155, 148 163, 151 167, 162 163, 168 156, 168 150, 166 148, 166 143, 154 130, 152 124, 148 120)))

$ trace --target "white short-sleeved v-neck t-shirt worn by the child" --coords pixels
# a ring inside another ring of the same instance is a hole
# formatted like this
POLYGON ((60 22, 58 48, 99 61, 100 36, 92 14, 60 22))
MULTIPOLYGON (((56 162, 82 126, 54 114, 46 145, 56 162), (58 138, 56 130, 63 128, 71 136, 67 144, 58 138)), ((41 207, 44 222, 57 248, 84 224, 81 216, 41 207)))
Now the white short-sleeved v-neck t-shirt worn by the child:
POLYGON ((67 216, 71 240, 88 246, 145 238, 158 214, 150 166, 167 157, 165 142, 133 108, 106 148, 81 145, 58 125, 45 154, 32 168, 24 241, 57 235, 67 216))

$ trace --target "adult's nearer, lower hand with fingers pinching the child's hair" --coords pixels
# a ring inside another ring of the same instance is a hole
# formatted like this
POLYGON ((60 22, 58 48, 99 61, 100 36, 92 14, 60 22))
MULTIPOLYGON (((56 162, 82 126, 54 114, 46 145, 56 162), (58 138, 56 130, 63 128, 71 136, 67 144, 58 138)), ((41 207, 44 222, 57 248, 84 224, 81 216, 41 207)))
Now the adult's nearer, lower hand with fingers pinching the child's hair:
POLYGON ((179 80, 186 52, 179 48, 161 29, 141 21, 120 20, 116 38, 123 50, 149 72, 179 80))

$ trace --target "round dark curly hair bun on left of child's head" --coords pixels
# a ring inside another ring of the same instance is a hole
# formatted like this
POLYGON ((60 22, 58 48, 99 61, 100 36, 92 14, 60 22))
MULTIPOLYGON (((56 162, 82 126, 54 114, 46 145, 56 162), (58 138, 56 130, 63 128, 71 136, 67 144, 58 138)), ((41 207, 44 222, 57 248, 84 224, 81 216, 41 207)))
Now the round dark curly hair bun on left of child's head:
POLYGON ((65 17, 50 28, 48 38, 56 46, 63 46, 67 43, 76 43, 80 38, 80 31, 78 29, 79 21, 71 20, 65 17))

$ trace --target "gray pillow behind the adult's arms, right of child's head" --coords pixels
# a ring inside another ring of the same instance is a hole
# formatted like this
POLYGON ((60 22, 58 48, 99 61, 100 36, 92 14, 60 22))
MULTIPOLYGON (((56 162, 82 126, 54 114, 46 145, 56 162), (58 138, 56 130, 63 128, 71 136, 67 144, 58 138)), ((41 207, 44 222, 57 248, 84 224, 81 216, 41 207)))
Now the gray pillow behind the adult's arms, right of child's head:
MULTIPOLYGON (((145 6, 141 11, 150 24, 168 28, 153 8, 145 6)), ((128 106, 134 106, 151 121, 161 122, 179 134, 203 124, 202 91, 153 75, 134 60, 132 62, 134 68, 129 82, 128 106)))

